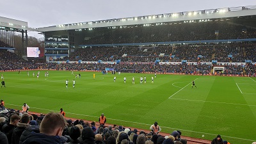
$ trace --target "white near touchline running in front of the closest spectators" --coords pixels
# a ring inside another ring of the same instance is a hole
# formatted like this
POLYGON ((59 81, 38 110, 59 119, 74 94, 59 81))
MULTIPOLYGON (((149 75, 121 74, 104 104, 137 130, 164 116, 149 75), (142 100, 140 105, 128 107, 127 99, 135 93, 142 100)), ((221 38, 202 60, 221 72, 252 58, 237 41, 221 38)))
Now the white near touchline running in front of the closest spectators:
MULTIPOLYGON (((10 106, 20 106, 20 105, 15 105, 15 104, 7 104, 7 105, 10 105, 10 106)), ((30 109, 31 108, 33 108, 33 107, 30 107, 30 109)), ((34 109, 42 109, 42 108, 34 108, 34 109)), ((42 110, 54 111, 54 110, 51 110, 51 109, 42 109, 42 110)), ((59 111, 55 111, 55 112, 59 112, 59 111)), ((68 112, 65 112, 65 113, 68 113, 68 112)), ((77 114, 77 113, 69 113, 69 114, 81 115, 81 116, 90 116, 90 115, 83 115, 83 114, 77 114)), ((90 116, 90 117, 99 118, 99 116, 90 116)), ((113 118, 108 118, 108 120, 116 120, 116 121, 120 121, 120 122, 129 122, 129 123, 133 123, 133 124, 151 125, 151 124, 143 124, 143 123, 140 123, 140 122, 130 122, 130 121, 127 121, 127 120, 117 120, 117 119, 113 119, 113 118)), ((164 126, 161 126, 161 127, 164 127, 164 126)), ((166 129, 177 129, 177 128, 173 128, 173 127, 164 127, 164 128, 166 128, 166 129)), ((196 132, 196 133, 200 133, 200 134, 209 134, 209 135, 212 135, 212 136, 216 136, 216 134, 211 134, 211 133, 206 133, 206 132, 189 131, 189 130, 186 130, 186 129, 179 129, 179 130, 181 130, 181 131, 188 131, 188 132, 196 132)), ((227 137, 227 138, 235 138, 235 139, 238 139, 238 140, 255 141, 255 140, 248 140, 248 139, 244 139, 244 138, 236 138, 236 137, 232 137, 232 136, 225 136, 225 137, 227 137)))

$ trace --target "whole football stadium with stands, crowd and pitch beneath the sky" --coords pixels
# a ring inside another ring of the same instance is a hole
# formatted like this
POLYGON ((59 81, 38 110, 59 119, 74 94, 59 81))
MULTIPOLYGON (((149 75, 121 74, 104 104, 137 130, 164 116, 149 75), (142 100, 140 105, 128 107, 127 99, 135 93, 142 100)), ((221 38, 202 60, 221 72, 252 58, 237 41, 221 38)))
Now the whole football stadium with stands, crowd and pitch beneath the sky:
POLYGON ((0 63, 9 143, 39 133, 61 143, 256 141, 256 6, 44 28, 0 17, 0 63), (44 47, 28 47, 28 31, 44 47))

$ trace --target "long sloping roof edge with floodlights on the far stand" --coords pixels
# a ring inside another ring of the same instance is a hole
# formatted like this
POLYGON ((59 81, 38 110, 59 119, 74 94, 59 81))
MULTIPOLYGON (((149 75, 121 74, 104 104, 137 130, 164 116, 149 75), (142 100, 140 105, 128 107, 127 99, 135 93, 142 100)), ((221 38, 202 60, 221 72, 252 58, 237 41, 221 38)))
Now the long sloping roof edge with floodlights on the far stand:
MULTIPOLYGON (((117 26, 132 26, 138 24, 161 24, 163 22, 175 22, 175 21, 194 21, 194 20, 214 20, 214 19, 227 19, 232 17, 254 17, 256 15, 256 6, 239 6, 230 8, 216 8, 211 10, 196 10, 191 12, 177 12, 177 13, 163 13, 157 15, 144 15, 138 17, 125 17, 120 19, 107 19, 97 20, 90 22, 77 22, 74 24, 61 24, 57 26, 49 26, 44 28, 38 28, 40 32, 46 31, 63 31, 76 29, 81 31, 82 29, 92 30, 93 28, 109 27, 115 28, 117 26)), ((254 17, 255 18, 255 17, 254 17)), ((243 20, 242 20, 243 21, 243 20)), ((241 21, 240 21, 241 22, 241 21)), ((255 24, 255 20, 250 19, 251 24, 255 24)), ((247 24, 247 23, 246 23, 247 24)), ((254 26, 254 25, 253 25, 254 26)))

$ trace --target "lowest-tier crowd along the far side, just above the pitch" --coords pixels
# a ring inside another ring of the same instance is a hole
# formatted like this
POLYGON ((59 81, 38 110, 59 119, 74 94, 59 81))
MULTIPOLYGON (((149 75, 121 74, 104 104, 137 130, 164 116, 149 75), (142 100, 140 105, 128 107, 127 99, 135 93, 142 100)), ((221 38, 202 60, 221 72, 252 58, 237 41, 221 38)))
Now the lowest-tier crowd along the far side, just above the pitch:
MULTIPOLYGON (((186 46, 188 47, 188 46, 186 46)), ((195 51, 198 47, 195 48, 195 51)), ((110 49, 110 48, 109 48, 110 49)), ((111 48, 113 50, 114 48, 111 48)), ((124 50, 124 49, 123 49, 124 50)), ((125 50, 126 51, 126 50, 125 50)), ((221 50, 220 50, 221 51, 221 50)), ((152 51, 154 53, 154 51, 152 51)), ((180 54, 181 55, 181 54, 180 54)), ((186 55, 184 55, 186 56, 186 55)), ((191 55, 192 56, 192 55, 191 55)), ((138 56, 139 57, 139 56, 138 56)), ((134 56, 134 58, 136 58, 134 56)), ((197 64, 179 63, 179 64, 164 64, 159 63, 143 63, 143 62, 129 62, 112 65, 104 63, 31 63, 23 60, 13 52, 0 50, 0 70, 29 70, 29 69, 49 69, 49 70, 99 70, 104 71, 106 68, 114 69, 117 72, 161 72, 174 74, 210 74, 212 72, 212 65, 204 62, 197 64)), ((226 70, 223 74, 246 74, 250 76, 255 75, 256 65, 225 65, 226 70)))

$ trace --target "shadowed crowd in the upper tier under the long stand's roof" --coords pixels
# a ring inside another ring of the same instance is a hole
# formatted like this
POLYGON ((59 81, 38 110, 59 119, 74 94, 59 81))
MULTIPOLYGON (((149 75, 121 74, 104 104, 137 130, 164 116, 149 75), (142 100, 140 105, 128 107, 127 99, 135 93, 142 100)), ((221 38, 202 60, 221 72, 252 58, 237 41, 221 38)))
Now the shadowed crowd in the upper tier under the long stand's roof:
MULTIPOLYGON (((93 29, 97 31, 97 29, 93 29)), ((191 40, 227 40, 255 38, 256 31, 228 21, 179 22, 156 26, 139 25, 133 28, 116 28, 93 36, 84 44, 129 44, 145 42, 177 42, 191 40), (246 33, 244 32, 246 31, 246 33), (218 35, 217 35, 218 34, 218 35)))

